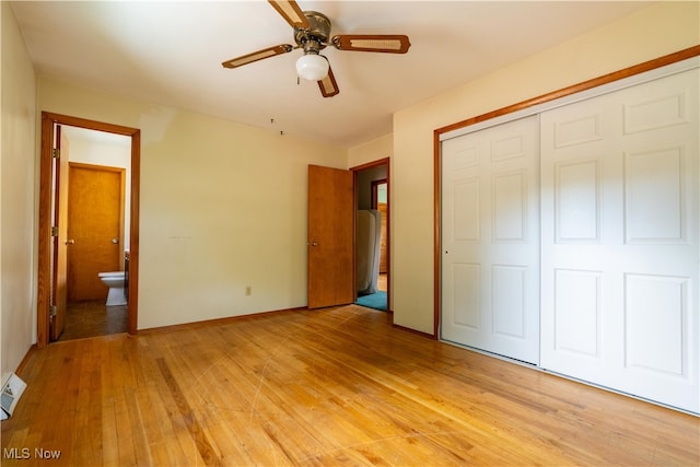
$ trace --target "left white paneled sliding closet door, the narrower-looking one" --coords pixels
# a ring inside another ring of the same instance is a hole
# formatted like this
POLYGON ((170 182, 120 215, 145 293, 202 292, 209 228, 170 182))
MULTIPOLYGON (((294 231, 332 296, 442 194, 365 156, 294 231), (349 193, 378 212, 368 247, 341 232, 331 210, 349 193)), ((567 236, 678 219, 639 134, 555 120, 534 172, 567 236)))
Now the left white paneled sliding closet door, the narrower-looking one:
POLYGON ((442 143, 441 338, 539 362, 539 130, 442 143))

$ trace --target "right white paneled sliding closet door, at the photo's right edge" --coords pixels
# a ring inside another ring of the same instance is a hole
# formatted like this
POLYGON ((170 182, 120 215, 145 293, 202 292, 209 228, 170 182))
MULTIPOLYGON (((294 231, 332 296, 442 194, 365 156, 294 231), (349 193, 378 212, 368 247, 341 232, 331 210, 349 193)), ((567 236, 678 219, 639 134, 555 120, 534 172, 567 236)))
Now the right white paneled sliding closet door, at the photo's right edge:
POLYGON ((542 113, 541 366, 700 411, 698 70, 542 113))

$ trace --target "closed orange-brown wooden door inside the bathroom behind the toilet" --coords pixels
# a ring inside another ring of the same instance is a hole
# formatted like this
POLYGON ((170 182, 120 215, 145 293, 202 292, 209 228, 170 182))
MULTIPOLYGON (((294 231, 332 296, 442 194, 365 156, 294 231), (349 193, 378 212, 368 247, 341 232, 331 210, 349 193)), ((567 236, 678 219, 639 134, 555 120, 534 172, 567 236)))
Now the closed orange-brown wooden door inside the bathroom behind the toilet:
POLYGON ((121 269, 122 168, 71 164, 68 209, 68 301, 103 300, 100 272, 121 269))

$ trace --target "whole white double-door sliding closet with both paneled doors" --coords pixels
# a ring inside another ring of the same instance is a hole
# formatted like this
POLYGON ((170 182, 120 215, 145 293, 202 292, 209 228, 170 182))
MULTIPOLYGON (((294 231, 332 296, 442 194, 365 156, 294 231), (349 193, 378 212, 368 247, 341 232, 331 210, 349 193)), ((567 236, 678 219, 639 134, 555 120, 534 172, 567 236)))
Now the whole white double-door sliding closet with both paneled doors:
POLYGON ((440 338, 700 412, 698 59, 441 136, 440 338))

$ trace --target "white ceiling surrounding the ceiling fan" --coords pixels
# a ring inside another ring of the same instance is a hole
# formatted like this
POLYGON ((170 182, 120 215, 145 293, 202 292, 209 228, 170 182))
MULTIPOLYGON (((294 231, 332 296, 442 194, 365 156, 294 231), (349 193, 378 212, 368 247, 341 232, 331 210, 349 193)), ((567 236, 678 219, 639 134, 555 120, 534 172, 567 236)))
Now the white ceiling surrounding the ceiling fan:
MULTIPOLYGON (((340 94, 298 84, 293 50, 221 62, 292 28, 267 1, 19 1, 40 75, 352 147, 392 132, 392 115, 509 62, 650 5, 631 1, 305 1, 334 34, 407 34, 406 55, 324 50, 340 94)), ((516 83, 513 83, 516 85, 516 83)), ((118 121, 114 121, 119 124, 118 121)))

